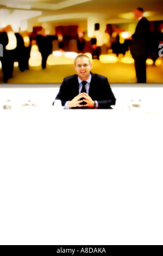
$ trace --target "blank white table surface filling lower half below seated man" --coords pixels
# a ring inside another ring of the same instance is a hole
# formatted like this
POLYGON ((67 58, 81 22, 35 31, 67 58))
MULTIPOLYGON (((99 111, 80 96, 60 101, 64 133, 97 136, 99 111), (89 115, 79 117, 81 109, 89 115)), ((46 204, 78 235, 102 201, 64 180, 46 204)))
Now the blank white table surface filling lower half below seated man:
POLYGON ((162 245, 162 113, 0 115, 1 244, 162 245))

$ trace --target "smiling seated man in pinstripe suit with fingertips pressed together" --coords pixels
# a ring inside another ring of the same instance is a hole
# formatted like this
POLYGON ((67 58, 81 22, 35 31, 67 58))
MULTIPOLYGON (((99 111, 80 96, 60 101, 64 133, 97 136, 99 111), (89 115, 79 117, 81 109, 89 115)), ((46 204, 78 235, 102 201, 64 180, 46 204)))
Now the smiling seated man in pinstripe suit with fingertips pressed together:
MULTIPOLYGON (((65 108, 111 108, 116 99, 108 79, 91 72, 89 57, 80 54, 74 61, 77 75, 64 78, 55 100, 65 108)), ((54 102, 53 102, 54 105, 54 102)))

